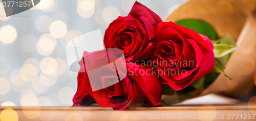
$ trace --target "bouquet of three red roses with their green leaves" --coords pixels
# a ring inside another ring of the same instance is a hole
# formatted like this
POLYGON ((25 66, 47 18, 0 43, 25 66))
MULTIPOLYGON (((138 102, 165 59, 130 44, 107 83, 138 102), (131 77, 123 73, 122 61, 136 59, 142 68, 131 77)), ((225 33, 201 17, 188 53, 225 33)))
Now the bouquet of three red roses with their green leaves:
MULTIPOLYGON (((183 23, 187 22, 181 21, 183 23)), ((121 75, 118 78, 111 75, 118 71, 115 67, 102 68, 110 75, 103 75, 101 70, 97 72, 95 76, 100 79, 95 81, 102 83, 102 89, 94 90, 87 72, 79 72, 74 105, 96 102, 99 107, 117 110, 162 105, 162 95, 173 95, 175 90, 179 94, 190 85, 205 84, 206 77, 215 79, 216 74, 225 74, 222 59, 215 57, 222 57, 235 48, 223 44, 224 40, 229 42, 229 36, 211 42, 208 37, 218 38, 200 35, 184 26, 163 22, 156 13, 135 2, 130 13, 110 23, 104 34, 105 48, 122 50, 127 75, 120 80, 121 75), (209 73, 214 74, 205 76, 209 73)), ((92 64, 104 63, 102 56, 92 57, 92 64)), ((79 64, 85 69, 82 60, 79 64)))

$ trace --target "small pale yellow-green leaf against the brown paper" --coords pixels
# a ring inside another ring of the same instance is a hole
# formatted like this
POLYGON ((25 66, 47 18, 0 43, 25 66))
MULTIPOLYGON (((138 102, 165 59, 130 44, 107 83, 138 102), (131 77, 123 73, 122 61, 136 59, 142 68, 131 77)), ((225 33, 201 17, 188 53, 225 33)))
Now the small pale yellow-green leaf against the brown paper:
POLYGON ((227 44, 214 44, 214 55, 215 57, 223 57, 224 55, 234 51, 236 45, 227 45, 227 44))

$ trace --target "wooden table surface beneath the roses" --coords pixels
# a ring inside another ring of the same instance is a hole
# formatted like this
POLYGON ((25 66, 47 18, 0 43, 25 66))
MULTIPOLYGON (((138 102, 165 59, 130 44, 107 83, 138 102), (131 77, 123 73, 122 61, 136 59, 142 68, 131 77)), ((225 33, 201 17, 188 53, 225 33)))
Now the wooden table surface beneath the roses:
POLYGON ((1 113, 0 114, 1 121, 6 119, 67 120, 67 121, 69 120, 242 120, 242 119, 256 120, 256 116, 254 116, 256 113, 256 106, 247 106, 247 104, 138 107, 138 108, 132 108, 130 110, 124 110, 124 111, 116 111, 116 110, 113 110, 112 108, 100 108, 100 107, 92 107, 92 106, 0 107, 0 113, 1 113), (160 118, 160 119, 157 119, 157 118, 160 118), (220 118, 224 118, 224 119, 220 119, 220 118))

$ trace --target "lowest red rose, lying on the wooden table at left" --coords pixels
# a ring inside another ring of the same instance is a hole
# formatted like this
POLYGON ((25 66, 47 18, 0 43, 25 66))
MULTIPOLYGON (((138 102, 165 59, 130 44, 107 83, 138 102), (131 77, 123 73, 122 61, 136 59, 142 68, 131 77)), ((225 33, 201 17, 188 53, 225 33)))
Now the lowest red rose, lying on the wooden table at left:
MULTIPOLYGON (((119 81, 115 75, 111 75, 116 73, 114 66, 102 66, 108 65, 108 63, 104 62, 104 58, 103 56, 96 58, 94 65, 90 66, 90 69, 93 70, 94 67, 99 67, 98 65, 100 65, 100 71, 102 71, 92 75, 100 77, 98 80, 91 80, 94 84, 91 85, 87 72, 79 72, 78 74, 78 80, 81 80, 81 83, 78 83, 78 87, 81 88, 83 86, 83 91, 95 99, 99 107, 124 110, 130 106, 161 105, 163 84, 161 79, 148 70, 147 67, 141 67, 135 63, 127 63, 127 76, 119 81), (109 75, 106 75, 106 73, 109 75), (98 86, 101 86, 102 89, 93 92, 93 88, 99 88, 98 86)), ((82 60, 79 64, 81 69, 84 69, 82 60)))

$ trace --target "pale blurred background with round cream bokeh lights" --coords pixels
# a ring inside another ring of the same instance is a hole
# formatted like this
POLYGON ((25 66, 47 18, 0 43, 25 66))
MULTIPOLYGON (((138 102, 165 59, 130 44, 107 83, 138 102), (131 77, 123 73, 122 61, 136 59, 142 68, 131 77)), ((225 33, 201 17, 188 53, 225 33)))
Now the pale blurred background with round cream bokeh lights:
MULTIPOLYGON (((0 2, 0 105, 71 106, 77 73, 67 64, 67 42, 96 29, 103 36, 135 1, 41 0, 10 17, 0 2)), ((185 0, 138 2, 164 19, 185 0)))

